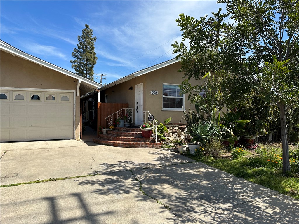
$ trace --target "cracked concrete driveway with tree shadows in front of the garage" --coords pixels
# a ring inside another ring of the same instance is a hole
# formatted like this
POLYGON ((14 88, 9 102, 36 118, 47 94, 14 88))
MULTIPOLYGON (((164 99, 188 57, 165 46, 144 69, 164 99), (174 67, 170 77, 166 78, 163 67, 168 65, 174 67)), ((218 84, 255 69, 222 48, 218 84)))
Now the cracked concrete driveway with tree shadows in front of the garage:
POLYGON ((1 223, 298 223, 299 202, 167 149, 1 143, 1 223))

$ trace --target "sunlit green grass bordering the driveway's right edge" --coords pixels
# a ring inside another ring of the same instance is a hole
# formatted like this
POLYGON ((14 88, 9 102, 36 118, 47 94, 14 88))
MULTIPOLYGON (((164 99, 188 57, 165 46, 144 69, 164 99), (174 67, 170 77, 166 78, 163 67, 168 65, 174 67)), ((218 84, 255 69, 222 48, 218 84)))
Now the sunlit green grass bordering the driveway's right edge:
MULTIPOLYGON (((280 152, 280 148, 271 147, 269 145, 260 144, 258 148, 266 148, 266 153, 269 153, 270 151, 270 153, 280 152)), ((237 159, 232 159, 231 157, 223 158, 221 156, 216 159, 208 156, 199 158, 190 154, 186 154, 186 156, 198 162, 203 162, 214 168, 225 171, 236 177, 244 178, 248 181, 263 185, 267 188, 279 191, 281 194, 285 194, 299 200, 299 175, 283 175, 281 164, 269 163, 267 161, 269 154, 262 157, 265 162, 254 165, 249 162, 248 157, 261 157, 254 151, 247 151, 246 156, 242 156, 237 159)))

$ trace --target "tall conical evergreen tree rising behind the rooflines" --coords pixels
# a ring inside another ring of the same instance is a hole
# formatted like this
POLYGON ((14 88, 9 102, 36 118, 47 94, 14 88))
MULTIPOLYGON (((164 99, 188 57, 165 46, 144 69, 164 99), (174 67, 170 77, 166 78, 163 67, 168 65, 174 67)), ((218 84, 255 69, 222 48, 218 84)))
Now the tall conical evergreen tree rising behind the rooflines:
POLYGON ((85 24, 82 30, 82 36, 78 36, 77 48, 74 47, 71 60, 72 68, 75 73, 87 79, 94 80, 94 65, 97 63, 96 53, 94 52, 94 42, 96 37, 93 37, 92 29, 85 24))

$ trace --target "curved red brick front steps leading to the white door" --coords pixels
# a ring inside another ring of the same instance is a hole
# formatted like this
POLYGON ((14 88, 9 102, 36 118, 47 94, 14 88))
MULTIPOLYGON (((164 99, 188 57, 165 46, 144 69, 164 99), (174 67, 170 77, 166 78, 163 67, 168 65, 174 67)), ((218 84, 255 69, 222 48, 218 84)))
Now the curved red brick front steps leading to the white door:
POLYGON ((111 145, 125 148, 153 148, 161 147, 161 143, 155 143, 153 138, 143 138, 140 128, 119 128, 100 134, 93 142, 101 145, 111 145))

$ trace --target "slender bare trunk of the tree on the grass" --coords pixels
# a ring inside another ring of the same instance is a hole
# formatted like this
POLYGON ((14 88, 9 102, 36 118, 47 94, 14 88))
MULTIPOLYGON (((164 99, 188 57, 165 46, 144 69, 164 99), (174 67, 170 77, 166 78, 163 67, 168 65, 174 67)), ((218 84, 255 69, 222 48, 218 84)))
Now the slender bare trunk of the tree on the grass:
POLYGON ((286 171, 291 171, 290 167, 290 157, 289 157, 289 143, 286 136, 286 112, 285 105, 280 104, 280 131, 281 131, 281 141, 282 141, 282 168, 283 173, 286 171))

